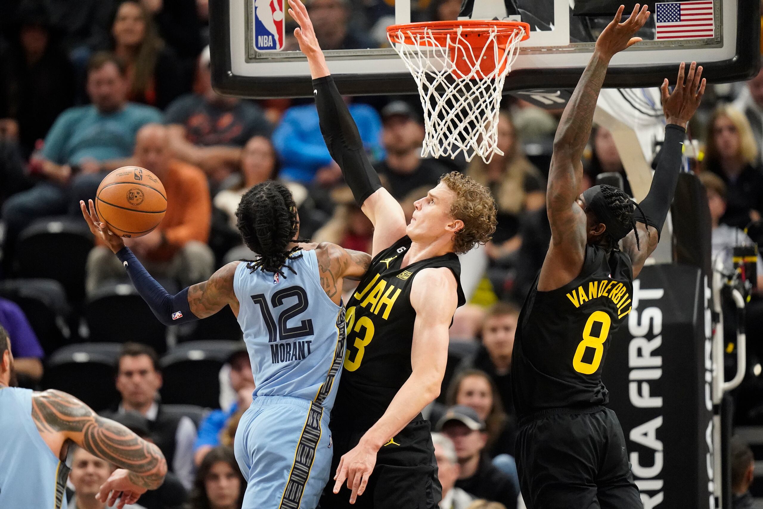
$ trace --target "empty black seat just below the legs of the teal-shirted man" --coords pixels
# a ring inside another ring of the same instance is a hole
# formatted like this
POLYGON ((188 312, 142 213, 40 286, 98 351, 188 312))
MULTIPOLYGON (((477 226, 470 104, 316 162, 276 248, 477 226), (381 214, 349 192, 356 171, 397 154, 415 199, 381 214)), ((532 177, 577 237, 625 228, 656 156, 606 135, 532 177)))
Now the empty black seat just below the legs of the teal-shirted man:
POLYGON ((34 221, 19 234, 15 266, 24 278, 55 279, 72 303, 85 297, 85 263, 93 236, 85 221, 56 217, 34 221))

